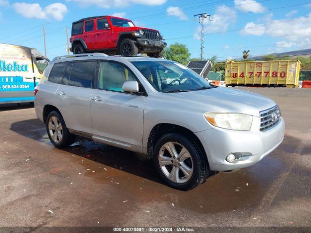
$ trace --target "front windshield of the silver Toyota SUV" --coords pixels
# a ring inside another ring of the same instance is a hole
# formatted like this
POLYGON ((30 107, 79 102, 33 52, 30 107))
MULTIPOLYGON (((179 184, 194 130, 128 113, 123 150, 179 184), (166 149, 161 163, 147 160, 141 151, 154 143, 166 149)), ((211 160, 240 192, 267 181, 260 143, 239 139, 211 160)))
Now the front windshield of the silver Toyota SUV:
POLYGON ((159 92, 184 92, 213 88, 200 75, 173 61, 136 61, 132 64, 159 92))

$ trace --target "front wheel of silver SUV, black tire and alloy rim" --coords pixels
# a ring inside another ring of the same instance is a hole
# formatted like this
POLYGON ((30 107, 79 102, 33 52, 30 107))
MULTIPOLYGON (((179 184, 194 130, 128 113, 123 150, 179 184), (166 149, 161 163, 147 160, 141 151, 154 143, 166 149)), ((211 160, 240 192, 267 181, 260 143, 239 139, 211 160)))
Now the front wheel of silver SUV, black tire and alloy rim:
POLYGON ((160 137, 153 153, 157 172, 173 188, 192 189, 203 183, 209 174, 204 151, 195 141, 180 134, 160 137))

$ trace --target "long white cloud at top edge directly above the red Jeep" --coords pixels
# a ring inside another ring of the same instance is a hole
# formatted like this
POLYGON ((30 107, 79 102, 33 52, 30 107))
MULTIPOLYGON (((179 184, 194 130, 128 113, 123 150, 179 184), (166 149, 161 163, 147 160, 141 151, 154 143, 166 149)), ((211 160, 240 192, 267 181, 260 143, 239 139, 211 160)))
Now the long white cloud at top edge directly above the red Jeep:
POLYGON ((103 8, 124 7, 130 4, 141 4, 148 6, 163 5, 167 0, 71 0, 76 1, 82 7, 95 5, 103 8))

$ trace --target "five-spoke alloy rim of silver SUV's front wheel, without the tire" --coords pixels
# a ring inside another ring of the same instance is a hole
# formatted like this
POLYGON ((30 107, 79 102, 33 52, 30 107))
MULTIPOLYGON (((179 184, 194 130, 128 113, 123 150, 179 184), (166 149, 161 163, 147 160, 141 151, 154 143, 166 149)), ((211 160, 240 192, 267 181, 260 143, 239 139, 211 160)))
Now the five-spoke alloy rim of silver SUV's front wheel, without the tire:
POLYGON ((177 142, 165 143, 158 155, 164 175, 174 183, 186 183, 193 173, 193 162, 189 151, 177 142))

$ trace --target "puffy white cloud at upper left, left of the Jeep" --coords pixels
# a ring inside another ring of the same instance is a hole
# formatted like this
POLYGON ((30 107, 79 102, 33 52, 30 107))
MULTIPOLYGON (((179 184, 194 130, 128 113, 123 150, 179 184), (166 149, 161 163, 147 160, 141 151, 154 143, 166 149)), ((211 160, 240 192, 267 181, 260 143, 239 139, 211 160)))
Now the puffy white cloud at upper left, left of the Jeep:
POLYGON ((63 3, 52 3, 44 9, 38 3, 16 2, 13 4, 14 10, 26 18, 54 18, 62 20, 68 12, 67 6, 63 3))

